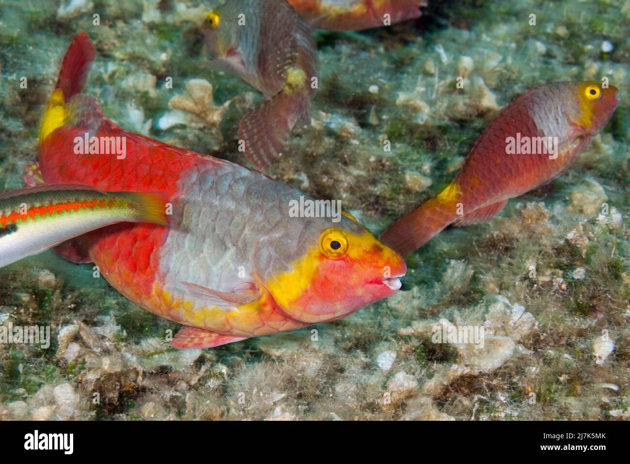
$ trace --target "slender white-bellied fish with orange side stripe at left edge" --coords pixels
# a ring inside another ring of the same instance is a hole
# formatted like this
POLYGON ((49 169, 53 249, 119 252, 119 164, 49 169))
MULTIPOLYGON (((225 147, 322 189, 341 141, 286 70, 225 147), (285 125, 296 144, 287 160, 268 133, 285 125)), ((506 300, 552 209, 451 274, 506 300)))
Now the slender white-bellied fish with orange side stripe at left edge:
POLYGON ((166 225, 164 196, 49 184, 0 195, 0 267, 119 222, 166 225))

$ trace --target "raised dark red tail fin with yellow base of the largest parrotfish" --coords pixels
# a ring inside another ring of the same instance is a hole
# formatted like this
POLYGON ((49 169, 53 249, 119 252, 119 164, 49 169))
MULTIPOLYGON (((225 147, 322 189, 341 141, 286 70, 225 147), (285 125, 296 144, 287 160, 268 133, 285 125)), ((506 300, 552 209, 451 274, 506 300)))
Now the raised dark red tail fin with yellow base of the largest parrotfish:
POLYGON ((64 126, 67 119, 66 104, 70 98, 81 93, 88 80, 89 70, 95 59, 94 45, 85 32, 78 33, 68 47, 64 61, 61 64, 55 92, 50 98, 42 128, 40 129, 40 144, 57 128, 64 126))

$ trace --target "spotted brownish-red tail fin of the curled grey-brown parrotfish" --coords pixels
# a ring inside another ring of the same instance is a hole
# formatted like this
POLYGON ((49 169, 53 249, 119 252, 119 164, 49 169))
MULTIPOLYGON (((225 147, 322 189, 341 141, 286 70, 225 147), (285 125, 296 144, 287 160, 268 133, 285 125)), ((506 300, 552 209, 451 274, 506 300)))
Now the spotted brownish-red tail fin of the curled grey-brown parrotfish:
POLYGON ((285 89, 243 116, 239 138, 245 143, 249 161, 258 169, 272 164, 289 140, 295 123, 306 121, 310 105, 309 96, 285 89))

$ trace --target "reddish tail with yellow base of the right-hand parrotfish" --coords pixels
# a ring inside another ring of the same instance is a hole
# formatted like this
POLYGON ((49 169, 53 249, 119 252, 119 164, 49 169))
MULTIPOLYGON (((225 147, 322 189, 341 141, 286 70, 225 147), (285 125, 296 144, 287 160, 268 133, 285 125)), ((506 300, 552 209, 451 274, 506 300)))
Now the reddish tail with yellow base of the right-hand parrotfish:
POLYGON ((459 217, 460 197, 459 186, 451 182, 437 197, 428 199, 389 226, 379 240, 403 258, 409 256, 459 217))

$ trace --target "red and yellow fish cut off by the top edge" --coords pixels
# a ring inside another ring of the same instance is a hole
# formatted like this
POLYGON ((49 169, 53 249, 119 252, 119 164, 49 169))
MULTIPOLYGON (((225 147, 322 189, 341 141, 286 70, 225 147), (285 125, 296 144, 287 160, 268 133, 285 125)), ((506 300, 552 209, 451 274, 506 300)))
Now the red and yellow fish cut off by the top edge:
POLYGON ((348 32, 420 18, 426 0, 289 0, 311 27, 348 32))

